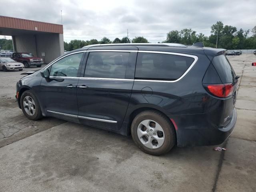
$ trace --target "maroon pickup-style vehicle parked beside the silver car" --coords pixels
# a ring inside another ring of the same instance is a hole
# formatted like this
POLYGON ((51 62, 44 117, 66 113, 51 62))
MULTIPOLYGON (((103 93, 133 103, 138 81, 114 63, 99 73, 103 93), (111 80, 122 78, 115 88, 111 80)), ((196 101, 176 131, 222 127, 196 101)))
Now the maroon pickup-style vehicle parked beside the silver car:
POLYGON ((31 53, 13 53, 12 59, 23 63, 25 68, 29 68, 30 66, 41 67, 44 64, 43 59, 37 58, 31 53))

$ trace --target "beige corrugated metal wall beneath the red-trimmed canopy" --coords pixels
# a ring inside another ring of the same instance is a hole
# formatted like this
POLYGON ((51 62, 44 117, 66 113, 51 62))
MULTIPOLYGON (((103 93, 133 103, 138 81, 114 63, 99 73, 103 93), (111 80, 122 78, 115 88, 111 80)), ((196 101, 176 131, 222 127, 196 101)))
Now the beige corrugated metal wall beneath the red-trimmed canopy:
POLYGON ((64 54, 63 34, 36 34, 12 36, 14 39, 14 50, 16 52, 29 52, 34 56, 43 58, 45 63, 64 54), (42 56, 44 53, 45 56, 42 56))

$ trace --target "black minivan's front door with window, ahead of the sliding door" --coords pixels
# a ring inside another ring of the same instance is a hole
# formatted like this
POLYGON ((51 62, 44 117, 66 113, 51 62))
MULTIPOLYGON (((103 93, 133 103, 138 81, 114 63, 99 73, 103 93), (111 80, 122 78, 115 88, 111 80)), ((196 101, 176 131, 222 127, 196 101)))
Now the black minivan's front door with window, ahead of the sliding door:
POLYGON ((78 121, 76 86, 83 52, 68 55, 49 67, 50 78, 43 78, 40 100, 46 113, 70 121, 78 121))

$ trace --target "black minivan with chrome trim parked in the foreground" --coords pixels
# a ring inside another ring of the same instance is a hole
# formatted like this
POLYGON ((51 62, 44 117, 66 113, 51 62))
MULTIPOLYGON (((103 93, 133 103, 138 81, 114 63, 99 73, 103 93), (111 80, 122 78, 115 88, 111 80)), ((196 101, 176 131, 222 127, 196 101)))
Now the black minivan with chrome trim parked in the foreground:
POLYGON ((122 135, 146 153, 221 144, 236 123, 239 76, 226 50, 182 44, 92 45, 21 78, 30 120, 52 116, 122 135))

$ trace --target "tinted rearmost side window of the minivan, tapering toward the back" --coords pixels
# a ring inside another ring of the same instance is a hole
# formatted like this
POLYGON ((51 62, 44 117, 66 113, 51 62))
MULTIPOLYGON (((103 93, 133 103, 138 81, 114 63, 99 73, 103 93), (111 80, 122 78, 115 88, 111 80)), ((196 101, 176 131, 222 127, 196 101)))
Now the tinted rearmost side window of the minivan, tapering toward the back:
POLYGON ((136 79, 176 80, 194 62, 194 58, 170 54, 138 53, 136 79))

